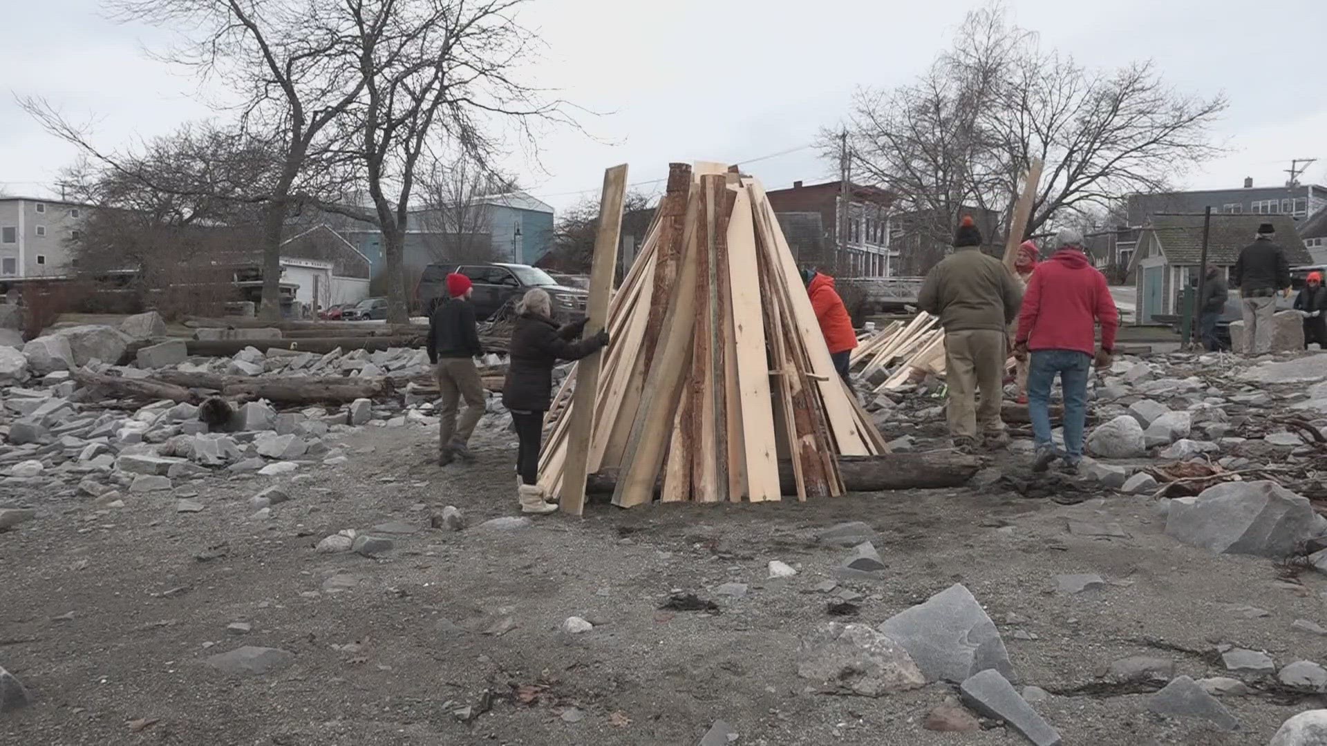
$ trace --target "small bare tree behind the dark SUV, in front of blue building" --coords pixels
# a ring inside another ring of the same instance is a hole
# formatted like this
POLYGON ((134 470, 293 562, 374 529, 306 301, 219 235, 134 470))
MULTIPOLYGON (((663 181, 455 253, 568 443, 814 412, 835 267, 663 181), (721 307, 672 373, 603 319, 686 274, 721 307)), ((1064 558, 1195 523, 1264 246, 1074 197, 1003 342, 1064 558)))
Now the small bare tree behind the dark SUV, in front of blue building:
POLYGON ((516 183, 462 155, 434 162, 419 179, 422 210, 414 214, 425 231, 425 244, 435 261, 472 264, 494 261, 487 196, 516 190, 516 183))

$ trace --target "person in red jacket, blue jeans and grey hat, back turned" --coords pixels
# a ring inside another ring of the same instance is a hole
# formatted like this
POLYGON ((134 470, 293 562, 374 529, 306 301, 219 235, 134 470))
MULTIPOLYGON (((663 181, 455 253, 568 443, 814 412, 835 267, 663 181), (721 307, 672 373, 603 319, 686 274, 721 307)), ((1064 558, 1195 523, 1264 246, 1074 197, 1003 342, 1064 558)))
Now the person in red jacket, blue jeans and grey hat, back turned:
POLYGON ((1063 458, 1066 471, 1076 471, 1083 459, 1083 425, 1087 421, 1087 378, 1101 324, 1101 348, 1096 366, 1109 368, 1120 313, 1105 276, 1083 252, 1083 234, 1060 231, 1060 250, 1040 263, 1027 283, 1018 316, 1014 356, 1028 357, 1027 413, 1036 446, 1032 469, 1044 471, 1063 458), (1064 454, 1051 442, 1051 385, 1060 376, 1064 392, 1064 454))

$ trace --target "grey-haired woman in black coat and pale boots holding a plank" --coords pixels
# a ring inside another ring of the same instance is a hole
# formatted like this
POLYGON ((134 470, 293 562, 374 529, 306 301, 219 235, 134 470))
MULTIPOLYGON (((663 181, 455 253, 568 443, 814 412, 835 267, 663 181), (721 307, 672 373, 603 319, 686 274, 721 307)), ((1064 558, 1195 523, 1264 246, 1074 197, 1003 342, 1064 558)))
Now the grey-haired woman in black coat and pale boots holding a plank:
POLYGON ((544 413, 553 397, 553 365, 559 360, 580 360, 608 344, 608 332, 580 341, 585 320, 559 327, 552 320, 552 301, 545 291, 533 288, 516 307, 516 324, 507 345, 507 380, 502 402, 511 411, 520 446, 516 473, 520 475, 522 512, 545 514, 557 510, 545 502, 539 488, 539 447, 544 435, 544 413))

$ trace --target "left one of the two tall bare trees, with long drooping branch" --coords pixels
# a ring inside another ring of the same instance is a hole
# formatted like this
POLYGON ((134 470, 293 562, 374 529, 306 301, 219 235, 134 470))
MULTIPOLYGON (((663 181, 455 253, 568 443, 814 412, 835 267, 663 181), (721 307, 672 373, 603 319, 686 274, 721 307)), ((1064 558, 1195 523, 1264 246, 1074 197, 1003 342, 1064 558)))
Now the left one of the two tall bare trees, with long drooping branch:
MULTIPOLYGON (((247 199, 265 206, 263 223, 261 313, 280 315, 280 246, 285 218, 303 195, 318 194, 341 157, 329 138, 329 125, 364 90, 357 29, 337 0, 109 0, 125 21, 145 21, 184 29, 188 42, 163 54, 195 70, 200 80, 218 80, 240 97, 243 131, 275 134, 280 167, 267 188, 247 199)), ((380 23, 385 23, 382 19, 380 23)), ((38 98, 24 106, 57 135, 96 158, 123 157, 96 149, 82 127, 72 126, 38 98)))

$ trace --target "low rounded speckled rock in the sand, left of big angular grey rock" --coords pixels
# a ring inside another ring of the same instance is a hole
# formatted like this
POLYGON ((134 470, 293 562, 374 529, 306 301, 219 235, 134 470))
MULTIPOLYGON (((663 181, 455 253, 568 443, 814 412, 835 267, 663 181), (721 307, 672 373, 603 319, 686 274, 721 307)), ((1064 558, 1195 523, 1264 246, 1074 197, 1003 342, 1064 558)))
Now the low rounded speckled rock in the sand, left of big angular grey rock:
POLYGON ((863 697, 926 685, 908 650, 865 624, 819 625, 798 649, 798 676, 863 697))

